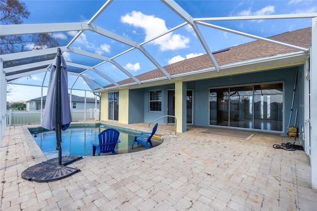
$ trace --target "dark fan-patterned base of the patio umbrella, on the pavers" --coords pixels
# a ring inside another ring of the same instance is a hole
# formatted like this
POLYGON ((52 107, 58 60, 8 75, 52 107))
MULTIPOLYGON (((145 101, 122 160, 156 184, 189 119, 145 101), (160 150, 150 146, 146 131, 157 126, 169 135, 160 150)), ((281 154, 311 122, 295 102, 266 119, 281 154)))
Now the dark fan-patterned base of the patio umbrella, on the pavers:
POLYGON ((49 159, 25 169, 21 176, 29 181, 53 182, 79 172, 80 169, 65 165, 82 158, 81 156, 63 156, 61 157, 61 165, 58 165, 58 158, 49 159))

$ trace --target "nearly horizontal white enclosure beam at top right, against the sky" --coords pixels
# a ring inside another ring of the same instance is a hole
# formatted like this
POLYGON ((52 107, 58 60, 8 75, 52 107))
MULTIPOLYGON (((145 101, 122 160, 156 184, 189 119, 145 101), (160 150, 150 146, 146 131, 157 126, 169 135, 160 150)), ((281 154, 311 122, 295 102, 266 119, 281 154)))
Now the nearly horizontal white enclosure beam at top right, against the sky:
POLYGON ((263 19, 289 19, 289 18, 314 18, 314 17, 317 17, 317 13, 231 16, 231 17, 207 17, 207 18, 194 18, 194 21, 263 20, 263 19))

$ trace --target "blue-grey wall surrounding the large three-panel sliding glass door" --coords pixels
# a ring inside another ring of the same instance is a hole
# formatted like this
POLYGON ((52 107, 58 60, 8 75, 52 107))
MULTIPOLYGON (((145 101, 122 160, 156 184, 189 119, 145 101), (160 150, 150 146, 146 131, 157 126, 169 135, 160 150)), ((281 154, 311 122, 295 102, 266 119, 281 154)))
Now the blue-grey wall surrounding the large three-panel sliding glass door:
POLYGON ((304 103, 304 95, 303 95, 304 67, 303 66, 260 71, 255 73, 232 75, 232 76, 225 76, 225 77, 196 81, 194 86, 187 87, 187 88, 193 88, 195 93, 194 94, 195 96, 194 124, 198 126, 209 126, 209 121, 208 121, 209 120, 209 115, 208 115, 209 114, 209 98, 208 98, 209 88, 280 81, 280 82, 284 82, 284 104, 283 104, 284 126, 283 126, 283 129, 285 132, 287 132, 297 68, 298 68, 298 78, 297 78, 297 84, 296 84, 296 92, 295 92, 295 98, 294 98, 291 125, 294 125, 296 109, 298 108, 297 125, 303 126, 304 120, 303 118, 300 118, 300 117, 303 117, 304 110, 303 108, 299 107, 301 103, 304 103))

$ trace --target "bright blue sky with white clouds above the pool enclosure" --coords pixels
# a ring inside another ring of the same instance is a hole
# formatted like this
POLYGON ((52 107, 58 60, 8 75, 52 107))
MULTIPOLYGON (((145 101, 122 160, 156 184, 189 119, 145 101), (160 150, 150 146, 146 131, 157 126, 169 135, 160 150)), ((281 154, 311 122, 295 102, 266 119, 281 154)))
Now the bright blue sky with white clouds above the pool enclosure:
MULTIPOLYGON (((23 2, 26 3, 31 13, 29 19, 24 20, 23 23, 29 24, 87 22, 106 1, 24 0, 23 2)), ((193 18, 317 12, 316 0, 176 0, 176 2, 193 18)), ((93 24, 137 43, 143 43, 183 22, 183 19, 159 0, 114 0, 93 24)), ((235 20, 209 23, 261 37, 269 37, 309 27, 311 19, 235 20)), ((254 41, 205 26, 199 26, 199 28, 212 52, 254 41)), ((52 35, 60 46, 64 46, 76 33, 58 32, 52 35)), ((71 47, 108 57, 116 56, 131 48, 91 31, 85 31, 71 47)), ((154 42, 147 43, 144 47, 161 66, 206 53, 193 29, 188 26, 177 29, 154 42)), ((85 65, 93 66, 100 62, 68 52, 63 53, 63 55, 66 61, 85 65)), ((139 50, 120 55, 114 60, 133 75, 156 69, 156 66, 139 50)), ((97 69, 115 81, 127 78, 124 73, 118 71, 109 62, 98 66, 97 69)), ((16 83, 41 86, 44 77, 45 73, 40 73, 31 78, 19 79, 16 83)), ((70 87, 76 81, 76 77, 68 77, 70 87)), ((105 83, 105 85, 109 84, 106 80, 100 79, 101 77, 98 77, 93 71, 88 71, 87 77, 105 83)), ((48 79, 49 74, 46 76, 44 85, 47 85, 48 79)), ((80 79, 76 81, 73 88, 89 89, 88 85, 80 79)), ((83 95, 82 92, 77 93, 76 91, 73 91, 73 94, 83 95)), ((46 95, 46 89, 44 89, 44 95, 46 95)), ((89 96, 88 93, 87 95, 89 96)), ((40 96, 41 88, 39 87, 13 85, 11 93, 7 96, 7 101, 27 101, 40 96)))

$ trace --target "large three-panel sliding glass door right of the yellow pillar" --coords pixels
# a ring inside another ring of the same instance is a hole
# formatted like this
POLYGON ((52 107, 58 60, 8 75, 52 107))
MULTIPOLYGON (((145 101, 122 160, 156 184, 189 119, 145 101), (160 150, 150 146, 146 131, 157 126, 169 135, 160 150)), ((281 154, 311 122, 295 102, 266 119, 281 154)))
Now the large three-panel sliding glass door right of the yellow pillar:
POLYGON ((282 131, 283 84, 210 89, 210 125, 282 131))

